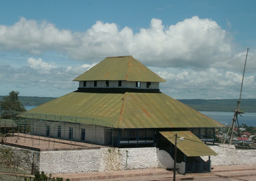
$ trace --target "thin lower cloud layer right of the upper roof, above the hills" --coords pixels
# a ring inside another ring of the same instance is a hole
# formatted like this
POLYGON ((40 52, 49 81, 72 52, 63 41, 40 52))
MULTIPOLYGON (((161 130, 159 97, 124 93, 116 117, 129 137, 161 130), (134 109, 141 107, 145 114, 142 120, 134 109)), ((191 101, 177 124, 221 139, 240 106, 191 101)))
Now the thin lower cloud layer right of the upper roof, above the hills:
MULTIPOLYGON (((208 70, 180 70, 176 74, 158 72, 164 75, 166 83, 160 84, 162 92, 173 98, 239 98, 242 75, 236 72, 223 72, 215 68, 208 70)), ((255 98, 255 75, 244 78, 243 97, 255 98)))

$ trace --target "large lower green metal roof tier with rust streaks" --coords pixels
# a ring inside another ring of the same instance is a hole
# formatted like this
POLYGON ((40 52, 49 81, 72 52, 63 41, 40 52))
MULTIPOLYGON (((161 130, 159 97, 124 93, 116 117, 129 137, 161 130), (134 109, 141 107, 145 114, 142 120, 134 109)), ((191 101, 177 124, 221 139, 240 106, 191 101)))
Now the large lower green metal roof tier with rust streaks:
POLYGON ((164 93, 72 92, 27 112, 99 119, 115 128, 223 127, 164 93))

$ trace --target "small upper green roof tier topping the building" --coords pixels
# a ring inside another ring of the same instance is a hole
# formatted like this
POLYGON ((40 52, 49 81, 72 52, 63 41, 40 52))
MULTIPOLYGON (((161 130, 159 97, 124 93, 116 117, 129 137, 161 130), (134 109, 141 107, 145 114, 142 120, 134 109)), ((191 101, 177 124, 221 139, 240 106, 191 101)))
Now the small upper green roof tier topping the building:
POLYGON ((107 57, 74 79, 74 81, 89 80, 166 82, 132 56, 107 57))

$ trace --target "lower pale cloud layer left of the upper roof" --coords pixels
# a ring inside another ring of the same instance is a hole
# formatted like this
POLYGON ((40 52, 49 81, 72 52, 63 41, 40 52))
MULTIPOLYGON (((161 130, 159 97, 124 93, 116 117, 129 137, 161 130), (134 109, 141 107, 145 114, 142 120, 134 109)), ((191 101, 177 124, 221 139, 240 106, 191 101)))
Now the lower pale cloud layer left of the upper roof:
MULTIPOLYGON (((1 85, 15 85, 18 90, 39 88, 41 89, 40 93, 42 91, 46 93, 61 90, 66 90, 66 93, 68 93, 75 91, 78 87, 78 83, 72 80, 91 67, 91 65, 88 65, 88 67, 56 67, 49 65, 41 58, 33 59, 32 57, 27 59, 27 64, 27 66, 19 68, 14 68, 9 64, 0 64, 1 85)), ((39 95, 34 92, 34 96, 39 95)))

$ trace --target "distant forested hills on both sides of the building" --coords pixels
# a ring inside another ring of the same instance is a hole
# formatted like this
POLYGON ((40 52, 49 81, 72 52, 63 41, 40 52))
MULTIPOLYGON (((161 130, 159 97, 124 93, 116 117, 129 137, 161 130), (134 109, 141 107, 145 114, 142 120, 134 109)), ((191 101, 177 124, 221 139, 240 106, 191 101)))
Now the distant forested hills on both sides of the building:
MULTIPOLYGON (((0 96, 0 101, 4 96, 0 96)), ((51 101, 53 97, 27 97, 19 96, 19 100, 24 106, 39 106, 51 101)), ((178 99, 197 111, 221 111, 230 112, 237 108, 236 99, 178 99)), ((256 113, 256 99, 242 99, 240 109, 244 112, 256 113)))

